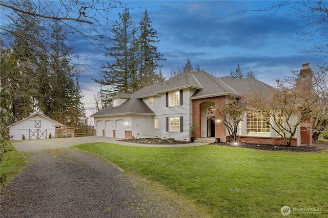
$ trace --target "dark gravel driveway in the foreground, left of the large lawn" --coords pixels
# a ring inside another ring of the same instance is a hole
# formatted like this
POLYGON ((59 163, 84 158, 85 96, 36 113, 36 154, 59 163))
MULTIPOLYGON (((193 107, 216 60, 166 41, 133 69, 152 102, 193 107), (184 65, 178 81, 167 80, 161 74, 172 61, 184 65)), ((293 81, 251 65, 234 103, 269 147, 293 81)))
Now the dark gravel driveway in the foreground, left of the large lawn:
POLYGON ((1 217, 181 217, 95 155, 74 148, 24 155, 29 166, 1 190, 1 217))

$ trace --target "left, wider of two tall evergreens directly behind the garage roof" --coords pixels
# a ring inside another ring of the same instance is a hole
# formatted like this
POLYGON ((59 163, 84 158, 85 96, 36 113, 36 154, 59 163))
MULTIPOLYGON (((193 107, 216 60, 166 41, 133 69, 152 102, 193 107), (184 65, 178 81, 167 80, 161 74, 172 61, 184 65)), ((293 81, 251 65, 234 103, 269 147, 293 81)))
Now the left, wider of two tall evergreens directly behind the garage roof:
POLYGON ((137 89, 137 55, 138 41, 136 38, 135 22, 126 8, 124 12, 118 13, 118 20, 112 28, 112 35, 109 38, 108 51, 106 57, 113 59, 100 72, 100 80, 94 81, 99 83, 102 94, 109 96, 118 92, 133 92, 137 89), (111 87, 109 90, 107 87, 111 87))

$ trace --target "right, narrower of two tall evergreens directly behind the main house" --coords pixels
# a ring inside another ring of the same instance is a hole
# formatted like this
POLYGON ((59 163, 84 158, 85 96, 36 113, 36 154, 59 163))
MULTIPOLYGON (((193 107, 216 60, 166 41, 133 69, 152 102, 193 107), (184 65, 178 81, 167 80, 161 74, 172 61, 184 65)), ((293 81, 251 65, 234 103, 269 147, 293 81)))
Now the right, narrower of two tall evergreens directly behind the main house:
POLYGON ((158 43, 157 31, 152 28, 152 20, 149 18, 147 9, 144 12, 144 18, 139 22, 140 25, 140 64, 139 75, 141 86, 145 87, 157 82, 163 81, 161 73, 156 70, 161 66, 159 61, 165 61, 162 54, 157 52, 157 47, 154 45, 158 43))

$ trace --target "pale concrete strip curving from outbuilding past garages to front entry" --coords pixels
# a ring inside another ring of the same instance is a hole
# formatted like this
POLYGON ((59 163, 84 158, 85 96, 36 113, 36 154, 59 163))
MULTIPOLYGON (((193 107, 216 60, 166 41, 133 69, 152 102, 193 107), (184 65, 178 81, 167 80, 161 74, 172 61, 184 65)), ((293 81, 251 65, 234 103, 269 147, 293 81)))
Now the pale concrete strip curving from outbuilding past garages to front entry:
POLYGON ((137 146, 137 147, 192 147, 201 146, 203 142, 193 142, 186 144, 139 144, 119 141, 122 138, 110 138, 100 136, 86 136, 76 138, 52 138, 52 139, 34 139, 24 140, 21 142, 13 142, 14 148, 19 152, 39 151, 48 149, 61 149, 76 146, 76 144, 93 143, 93 142, 108 142, 121 144, 122 146, 137 146))

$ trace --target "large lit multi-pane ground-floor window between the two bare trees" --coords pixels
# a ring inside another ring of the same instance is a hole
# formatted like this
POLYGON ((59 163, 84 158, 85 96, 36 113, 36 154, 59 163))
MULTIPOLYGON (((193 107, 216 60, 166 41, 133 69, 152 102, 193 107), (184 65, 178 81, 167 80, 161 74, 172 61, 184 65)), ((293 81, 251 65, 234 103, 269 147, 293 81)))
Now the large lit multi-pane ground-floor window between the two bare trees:
POLYGON ((270 136, 270 115, 264 111, 248 111, 247 135, 270 136))

